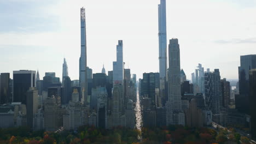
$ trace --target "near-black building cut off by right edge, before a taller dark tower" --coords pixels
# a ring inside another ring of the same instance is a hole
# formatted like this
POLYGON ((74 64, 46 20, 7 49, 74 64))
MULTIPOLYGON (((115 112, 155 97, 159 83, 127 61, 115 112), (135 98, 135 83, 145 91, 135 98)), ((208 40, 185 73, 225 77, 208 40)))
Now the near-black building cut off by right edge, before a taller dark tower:
POLYGON ((252 136, 256 138, 256 69, 250 71, 250 95, 249 95, 249 108, 251 113, 251 130, 252 136))

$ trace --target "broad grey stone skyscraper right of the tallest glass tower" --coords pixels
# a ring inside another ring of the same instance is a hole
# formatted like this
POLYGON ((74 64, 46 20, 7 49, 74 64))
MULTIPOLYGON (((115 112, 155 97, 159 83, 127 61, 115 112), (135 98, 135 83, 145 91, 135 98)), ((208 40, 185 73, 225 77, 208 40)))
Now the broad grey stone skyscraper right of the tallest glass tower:
POLYGON ((184 125, 181 100, 181 65, 178 39, 170 39, 168 70, 168 101, 166 103, 166 124, 184 125))

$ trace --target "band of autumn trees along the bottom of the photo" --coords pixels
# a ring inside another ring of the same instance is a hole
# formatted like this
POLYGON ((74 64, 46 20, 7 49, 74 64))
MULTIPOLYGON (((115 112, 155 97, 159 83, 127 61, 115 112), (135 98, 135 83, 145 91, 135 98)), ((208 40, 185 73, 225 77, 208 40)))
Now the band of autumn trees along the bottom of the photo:
POLYGON ((0 129, 0 143, 19 144, 247 144, 249 139, 234 129, 189 128, 182 126, 142 128, 123 127, 106 130, 83 126, 77 131, 30 131, 25 127, 0 129), (142 139, 140 139, 142 137, 142 139))

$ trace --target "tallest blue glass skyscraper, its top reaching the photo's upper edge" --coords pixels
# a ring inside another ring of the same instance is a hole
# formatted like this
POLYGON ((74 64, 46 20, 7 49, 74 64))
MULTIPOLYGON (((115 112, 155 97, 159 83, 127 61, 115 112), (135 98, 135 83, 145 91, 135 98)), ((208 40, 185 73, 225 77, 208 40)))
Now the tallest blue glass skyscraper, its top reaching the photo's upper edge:
MULTIPOLYGON (((160 97, 165 96, 165 81, 167 75, 166 55, 166 2, 161 0, 158 5, 158 36, 159 36, 159 74, 160 74, 160 97)), ((159 106, 161 107, 161 105, 159 106)))

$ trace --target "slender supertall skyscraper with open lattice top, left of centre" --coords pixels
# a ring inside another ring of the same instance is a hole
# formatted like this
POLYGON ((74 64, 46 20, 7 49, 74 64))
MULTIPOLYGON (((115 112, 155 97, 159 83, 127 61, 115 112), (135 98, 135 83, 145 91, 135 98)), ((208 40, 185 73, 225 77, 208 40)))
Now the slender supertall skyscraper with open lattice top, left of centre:
POLYGON ((80 21, 81 21, 81 56, 79 59, 79 82, 80 91, 82 93, 82 103, 87 101, 88 95, 88 83, 87 83, 87 57, 86 57, 86 22, 85 22, 85 8, 80 9, 80 21))

